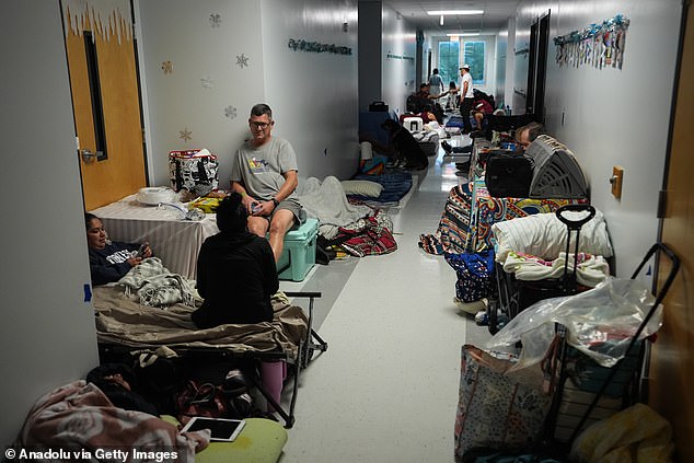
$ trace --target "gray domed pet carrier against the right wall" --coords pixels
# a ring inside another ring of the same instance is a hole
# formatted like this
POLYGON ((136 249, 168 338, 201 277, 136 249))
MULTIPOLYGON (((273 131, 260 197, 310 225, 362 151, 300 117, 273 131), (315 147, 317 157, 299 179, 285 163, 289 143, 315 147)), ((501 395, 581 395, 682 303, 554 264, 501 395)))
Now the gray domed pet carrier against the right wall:
POLYGON ((547 135, 537 137, 525 151, 535 166, 531 198, 587 198, 588 184, 574 153, 547 135))

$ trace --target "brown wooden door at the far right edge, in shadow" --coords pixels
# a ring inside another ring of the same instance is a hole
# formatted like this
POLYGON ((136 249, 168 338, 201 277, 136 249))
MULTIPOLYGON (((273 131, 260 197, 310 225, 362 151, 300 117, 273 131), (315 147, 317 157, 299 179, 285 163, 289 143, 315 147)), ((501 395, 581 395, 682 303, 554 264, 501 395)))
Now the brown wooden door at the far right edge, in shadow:
MULTIPOLYGON (((653 345, 649 403, 673 426, 676 462, 694 462, 694 16, 684 11, 680 72, 666 178, 666 218, 661 240, 681 259, 664 300, 663 326, 653 345)), ((659 281, 669 267, 663 262, 659 281)))

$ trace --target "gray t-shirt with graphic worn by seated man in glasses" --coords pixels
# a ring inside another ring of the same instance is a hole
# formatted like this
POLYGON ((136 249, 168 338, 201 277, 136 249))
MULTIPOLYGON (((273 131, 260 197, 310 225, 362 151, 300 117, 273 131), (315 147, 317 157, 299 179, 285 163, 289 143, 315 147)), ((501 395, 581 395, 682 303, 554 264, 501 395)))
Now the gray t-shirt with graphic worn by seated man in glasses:
MULTIPOLYGON (((248 140, 236 150, 231 181, 243 182, 251 196, 268 201, 285 184, 282 174, 289 171, 298 171, 297 153, 289 141, 271 137, 268 142, 256 148, 248 140)), ((287 199, 298 201, 296 192, 287 199)))

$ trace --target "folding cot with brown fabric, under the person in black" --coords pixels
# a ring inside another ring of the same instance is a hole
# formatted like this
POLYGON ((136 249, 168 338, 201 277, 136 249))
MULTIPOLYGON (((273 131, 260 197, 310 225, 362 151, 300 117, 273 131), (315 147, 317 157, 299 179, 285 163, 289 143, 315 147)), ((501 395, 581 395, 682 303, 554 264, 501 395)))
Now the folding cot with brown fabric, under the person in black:
POLYGON ((325 343, 312 328, 313 302, 320 292, 288 292, 292 298, 308 298, 309 313, 286 300, 274 299, 275 320, 257 324, 227 324, 198 329, 190 321, 195 309, 182 303, 165 309, 141 305, 117 287, 94 288, 96 334, 102 362, 119 359, 135 361, 136 356, 170 355, 195 360, 286 361, 292 370, 291 400, 288 409, 277 404, 263 387, 254 368, 247 378, 275 407, 285 427, 294 424, 299 377, 316 350, 325 343))

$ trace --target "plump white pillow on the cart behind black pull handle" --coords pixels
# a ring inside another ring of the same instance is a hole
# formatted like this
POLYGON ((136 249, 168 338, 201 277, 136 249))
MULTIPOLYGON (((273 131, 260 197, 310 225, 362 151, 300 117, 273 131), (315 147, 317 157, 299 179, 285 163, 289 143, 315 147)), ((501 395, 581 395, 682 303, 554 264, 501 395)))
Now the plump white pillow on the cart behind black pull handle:
MULTIPOLYGON (((586 217, 588 212, 564 212, 569 220, 586 217)), ((496 261, 506 262, 509 251, 531 254, 543 259, 555 259, 566 251, 568 230, 554 212, 535 213, 491 225, 497 241, 496 261)), ((569 252, 574 252, 576 233, 571 232, 569 252)), ((604 216, 595 210, 595 217, 581 228, 578 251, 603 257, 612 256, 612 244, 608 235, 604 216)))

